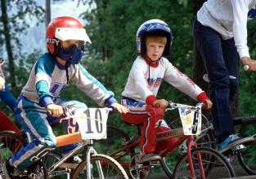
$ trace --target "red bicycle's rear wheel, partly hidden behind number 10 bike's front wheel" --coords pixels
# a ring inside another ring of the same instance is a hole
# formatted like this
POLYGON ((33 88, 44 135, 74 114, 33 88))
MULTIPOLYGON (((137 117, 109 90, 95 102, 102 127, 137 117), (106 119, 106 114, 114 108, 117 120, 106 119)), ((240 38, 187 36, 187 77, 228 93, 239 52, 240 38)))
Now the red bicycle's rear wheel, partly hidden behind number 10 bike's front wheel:
POLYGON ((121 147, 128 144, 128 142, 131 142, 131 139, 127 133, 122 129, 110 125, 107 127, 107 138, 101 140, 101 142, 95 143, 94 148, 98 153, 109 155, 117 160, 122 166, 125 165, 124 167, 128 167, 132 157, 136 154, 134 148, 130 147, 124 151, 120 151, 118 154, 111 155, 111 153, 119 150, 121 147))

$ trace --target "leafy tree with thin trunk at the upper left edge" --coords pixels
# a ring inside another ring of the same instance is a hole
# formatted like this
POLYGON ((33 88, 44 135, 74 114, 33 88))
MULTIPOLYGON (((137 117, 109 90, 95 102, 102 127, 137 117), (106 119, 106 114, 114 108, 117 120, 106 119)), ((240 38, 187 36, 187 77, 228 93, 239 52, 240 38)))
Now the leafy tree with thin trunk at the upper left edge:
POLYGON ((29 20, 43 20, 43 8, 33 0, 1 0, 0 39, 5 43, 8 57, 8 71, 11 87, 16 87, 16 67, 14 59, 20 55, 20 33, 29 28, 29 20))

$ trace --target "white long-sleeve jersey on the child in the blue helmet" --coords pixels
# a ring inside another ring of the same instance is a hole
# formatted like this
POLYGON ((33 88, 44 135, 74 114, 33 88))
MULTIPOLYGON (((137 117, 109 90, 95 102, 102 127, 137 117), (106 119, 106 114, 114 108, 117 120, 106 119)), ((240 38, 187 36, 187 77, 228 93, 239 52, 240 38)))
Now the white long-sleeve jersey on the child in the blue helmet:
POLYGON ((188 76, 173 67, 168 59, 162 57, 157 67, 152 67, 138 56, 132 65, 122 96, 145 103, 147 97, 157 95, 163 80, 195 100, 203 92, 188 76))

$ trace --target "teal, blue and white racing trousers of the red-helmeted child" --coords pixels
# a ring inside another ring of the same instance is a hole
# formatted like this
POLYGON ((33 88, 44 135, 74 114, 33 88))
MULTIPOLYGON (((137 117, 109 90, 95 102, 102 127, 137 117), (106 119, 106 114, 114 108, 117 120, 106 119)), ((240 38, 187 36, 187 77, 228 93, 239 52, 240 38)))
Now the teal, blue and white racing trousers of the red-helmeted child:
MULTIPOLYGON (((69 107, 70 110, 87 107, 84 103, 78 101, 68 101, 61 98, 53 98, 52 100, 61 107, 69 107)), ((20 151, 16 152, 10 159, 10 164, 20 170, 24 170, 33 164, 34 161, 46 155, 48 151, 52 151, 56 148, 56 136, 49 124, 49 122, 52 122, 54 119, 47 118, 46 107, 30 101, 22 94, 17 99, 15 114, 23 129, 34 137, 32 142, 23 146, 20 151)), ((78 125, 74 120, 68 120, 66 122, 66 133, 74 133, 78 130, 78 125)), ((75 146, 77 145, 65 146, 63 151, 67 153, 74 149, 75 146)))

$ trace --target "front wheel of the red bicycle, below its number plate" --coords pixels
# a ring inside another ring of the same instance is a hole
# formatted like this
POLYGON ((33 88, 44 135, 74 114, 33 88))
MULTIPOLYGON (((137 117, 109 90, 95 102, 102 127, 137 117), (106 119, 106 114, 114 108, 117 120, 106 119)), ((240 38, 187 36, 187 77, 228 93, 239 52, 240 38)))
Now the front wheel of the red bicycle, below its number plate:
MULTIPOLYGON (((236 177, 231 164, 221 153, 207 147, 199 147, 191 151, 196 175, 195 178, 200 178, 200 168, 198 167, 197 157, 195 157, 197 155, 200 155, 202 158, 206 178, 215 179, 220 177, 236 177)), ((175 178, 191 178, 190 170, 187 164, 187 155, 183 155, 182 158, 178 160, 173 171, 173 179, 175 178)))

